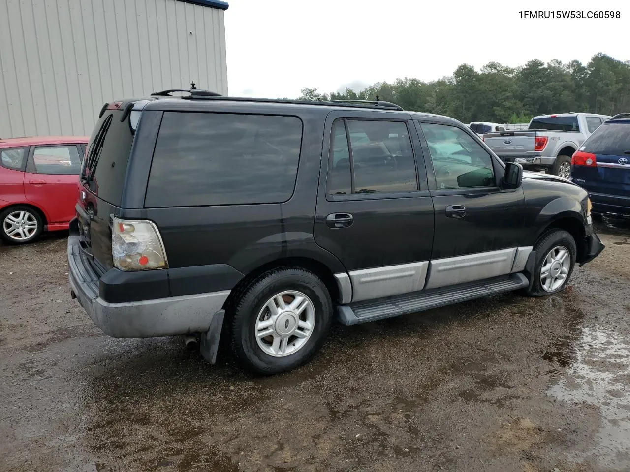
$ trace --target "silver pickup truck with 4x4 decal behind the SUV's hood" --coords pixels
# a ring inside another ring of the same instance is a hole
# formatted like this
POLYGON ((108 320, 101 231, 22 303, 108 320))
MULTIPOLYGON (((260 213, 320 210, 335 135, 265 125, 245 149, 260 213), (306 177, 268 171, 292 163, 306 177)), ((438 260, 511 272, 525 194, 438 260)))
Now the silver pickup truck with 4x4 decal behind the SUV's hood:
POLYGON ((534 116, 527 130, 486 133, 483 140, 503 162, 568 179, 573 153, 609 118, 593 113, 534 116))

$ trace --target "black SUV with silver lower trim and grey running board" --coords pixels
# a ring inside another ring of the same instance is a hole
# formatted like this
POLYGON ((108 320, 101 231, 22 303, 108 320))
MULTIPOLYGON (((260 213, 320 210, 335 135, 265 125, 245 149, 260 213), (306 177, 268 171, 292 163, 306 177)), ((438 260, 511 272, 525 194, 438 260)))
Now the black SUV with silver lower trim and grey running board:
MULTIPOLYGON (((163 94, 167 95, 167 94, 163 94)), ((566 286, 604 245, 587 192, 465 125, 382 101, 152 96, 103 106, 68 240, 106 334, 307 362, 345 325, 566 286)))

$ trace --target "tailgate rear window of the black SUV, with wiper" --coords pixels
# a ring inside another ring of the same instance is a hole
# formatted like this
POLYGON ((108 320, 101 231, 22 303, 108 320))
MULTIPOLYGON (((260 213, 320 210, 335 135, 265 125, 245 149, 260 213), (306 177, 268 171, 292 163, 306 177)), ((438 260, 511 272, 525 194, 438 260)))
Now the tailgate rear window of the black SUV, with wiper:
POLYGON ((106 110, 89 138, 81 181, 90 191, 112 205, 119 206, 134 134, 129 118, 120 121, 123 111, 106 110))

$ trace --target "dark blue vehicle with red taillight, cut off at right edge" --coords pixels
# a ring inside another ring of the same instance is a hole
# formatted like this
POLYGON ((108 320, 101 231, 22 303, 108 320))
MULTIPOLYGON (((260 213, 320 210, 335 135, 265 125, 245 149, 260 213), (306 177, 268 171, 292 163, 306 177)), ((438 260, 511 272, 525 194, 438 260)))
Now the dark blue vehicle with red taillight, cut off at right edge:
POLYGON ((620 113, 573 154, 571 179, 587 189, 593 212, 630 216, 630 113, 620 113))

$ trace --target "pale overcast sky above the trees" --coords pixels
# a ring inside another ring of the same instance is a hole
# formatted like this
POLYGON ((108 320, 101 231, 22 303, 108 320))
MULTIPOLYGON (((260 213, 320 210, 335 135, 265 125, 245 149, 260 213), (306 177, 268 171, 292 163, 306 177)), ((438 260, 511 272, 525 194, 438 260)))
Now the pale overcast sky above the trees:
POLYGON ((630 60, 619 35, 627 0, 229 0, 232 96, 297 98, 397 77, 432 81, 466 62, 516 67, 530 59, 583 63, 598 52, 630 60), (619 20, 521 19, 523 10, 620 11, 619 20))

